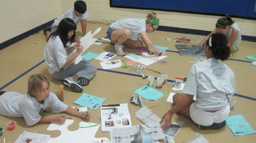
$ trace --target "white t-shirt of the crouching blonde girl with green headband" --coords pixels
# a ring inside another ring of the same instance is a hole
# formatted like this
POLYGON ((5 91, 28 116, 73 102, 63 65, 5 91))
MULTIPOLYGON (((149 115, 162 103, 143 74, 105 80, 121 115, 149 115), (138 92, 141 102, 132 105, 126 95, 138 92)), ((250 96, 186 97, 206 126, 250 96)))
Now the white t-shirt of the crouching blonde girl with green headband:
POLYGON ((112 23, 109 27, 113 30, 129 29, 131 31, 130 39, 136 41, 141 38, 141 33, 146 31, 146 20, 133 18, 121 19, 112 23))

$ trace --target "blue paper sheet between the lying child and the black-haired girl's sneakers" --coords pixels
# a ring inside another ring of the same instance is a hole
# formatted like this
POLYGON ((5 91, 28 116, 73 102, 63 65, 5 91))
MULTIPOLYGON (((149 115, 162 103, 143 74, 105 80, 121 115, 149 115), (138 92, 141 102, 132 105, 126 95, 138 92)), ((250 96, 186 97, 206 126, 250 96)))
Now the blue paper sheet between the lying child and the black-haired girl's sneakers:
POLYGON ((78 98, 74 104, 96 110, 105 100, 105 98, 98 98, 96 96, 83 93, 83 95, 78 98))

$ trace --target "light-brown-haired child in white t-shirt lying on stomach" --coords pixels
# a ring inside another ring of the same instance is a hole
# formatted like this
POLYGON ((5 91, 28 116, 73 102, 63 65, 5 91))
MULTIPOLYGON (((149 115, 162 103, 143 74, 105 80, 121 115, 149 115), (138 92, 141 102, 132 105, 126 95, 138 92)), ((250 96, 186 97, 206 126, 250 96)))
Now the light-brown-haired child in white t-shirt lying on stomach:
POLYGON ((57 117, 43 117, 40 114, 44 109, 50 108, 53 113, 65 112, 82 119, 89 119, 90 112, 80 113, 72 107, 59 101, 50 91, 48 79, 41 74, 31 75, 28 79, 28 93, 0 92, 0 115, 9 117, 24 117, 26 124, 32 126, 36 123, 59 123, 66 120, 65 115, 57 117))

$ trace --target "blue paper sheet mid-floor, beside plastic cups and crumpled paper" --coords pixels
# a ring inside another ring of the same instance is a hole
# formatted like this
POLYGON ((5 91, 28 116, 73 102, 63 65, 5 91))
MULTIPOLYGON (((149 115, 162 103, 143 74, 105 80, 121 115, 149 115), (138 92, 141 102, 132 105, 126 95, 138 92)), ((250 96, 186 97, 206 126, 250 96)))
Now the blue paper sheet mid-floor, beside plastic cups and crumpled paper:
POLYGON ((135 94, 142 95, 143 98, 146 98, 148 100, 156 101, 162 96, 164 96, 163 93, 159 92, 158 90, 155 90, 149 86, 144 86, 138 90, 135 90, 135 94))

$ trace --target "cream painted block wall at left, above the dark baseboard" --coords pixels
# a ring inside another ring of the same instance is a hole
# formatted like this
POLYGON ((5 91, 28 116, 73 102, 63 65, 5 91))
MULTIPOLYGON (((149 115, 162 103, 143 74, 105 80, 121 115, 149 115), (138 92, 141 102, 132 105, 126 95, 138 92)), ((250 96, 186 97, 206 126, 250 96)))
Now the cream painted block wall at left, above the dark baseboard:
POLYGON ((59 0, 1 0, 0 43, 60 15, 59 0))

